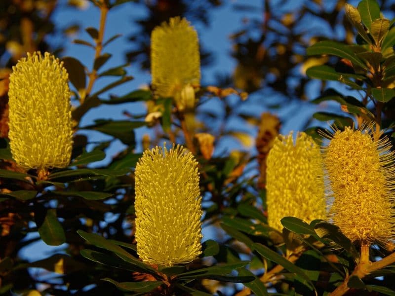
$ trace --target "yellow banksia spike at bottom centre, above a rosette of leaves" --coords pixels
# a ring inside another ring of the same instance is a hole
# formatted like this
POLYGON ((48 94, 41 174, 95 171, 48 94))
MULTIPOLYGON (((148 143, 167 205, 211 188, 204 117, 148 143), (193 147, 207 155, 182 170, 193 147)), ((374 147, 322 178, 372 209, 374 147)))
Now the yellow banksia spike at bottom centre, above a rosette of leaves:
POLYGON ((146 150, 135 171, 137 253, 146 263, 172 266, 201 254, 201 196, 197 161, 180 145, 146 150))

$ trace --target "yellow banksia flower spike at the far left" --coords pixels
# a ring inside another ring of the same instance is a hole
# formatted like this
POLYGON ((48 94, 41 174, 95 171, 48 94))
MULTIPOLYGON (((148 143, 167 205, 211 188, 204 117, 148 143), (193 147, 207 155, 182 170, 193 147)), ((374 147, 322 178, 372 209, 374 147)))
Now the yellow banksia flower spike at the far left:
POLYGON ((54 56, 28 54, 9 80, 9 139, 22 167, 45 170, 70 162, 73 131, 68 74, 54 56))

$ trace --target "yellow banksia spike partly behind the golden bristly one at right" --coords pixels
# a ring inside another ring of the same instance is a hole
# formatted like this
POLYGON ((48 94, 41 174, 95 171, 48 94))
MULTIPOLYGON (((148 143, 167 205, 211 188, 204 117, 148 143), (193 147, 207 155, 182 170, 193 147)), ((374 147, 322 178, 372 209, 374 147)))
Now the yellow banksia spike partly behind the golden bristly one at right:
POLYGON ((280 230, 287 216, 310 223, 326 216, 323 164, 319 146, 306 133, 279 135, 266 161, 269 226, 280 230))

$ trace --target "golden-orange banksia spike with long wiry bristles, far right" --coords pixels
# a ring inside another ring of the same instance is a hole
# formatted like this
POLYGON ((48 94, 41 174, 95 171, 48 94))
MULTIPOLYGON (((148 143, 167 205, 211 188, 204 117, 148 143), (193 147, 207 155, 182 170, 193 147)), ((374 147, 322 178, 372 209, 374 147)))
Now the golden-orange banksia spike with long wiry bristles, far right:
POLYGON ((388 139, 373 141, 371 128, 336 131, 325 148, 333 222, 352 241, 393 237, 394 152, 388 139))

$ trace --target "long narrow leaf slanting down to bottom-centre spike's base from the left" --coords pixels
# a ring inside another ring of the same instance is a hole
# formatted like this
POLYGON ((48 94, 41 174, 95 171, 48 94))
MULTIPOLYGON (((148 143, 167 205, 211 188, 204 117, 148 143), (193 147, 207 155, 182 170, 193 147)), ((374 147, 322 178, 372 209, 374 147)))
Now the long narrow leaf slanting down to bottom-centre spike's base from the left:
POLYGON ((121 247, 106 240, 104 237, 94 233, 87 233, 82 230, 78 230, 77 233, 92 245, 115 253, 115 255, 117 255, 120 259, 126 261, 129 264, 136 266, 137 268, 140 268, 141 270, 144 270, 145 273, 157 275, 157 272, 154 268, 138 260, 137 258, 126 252, 121 247))

